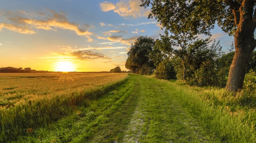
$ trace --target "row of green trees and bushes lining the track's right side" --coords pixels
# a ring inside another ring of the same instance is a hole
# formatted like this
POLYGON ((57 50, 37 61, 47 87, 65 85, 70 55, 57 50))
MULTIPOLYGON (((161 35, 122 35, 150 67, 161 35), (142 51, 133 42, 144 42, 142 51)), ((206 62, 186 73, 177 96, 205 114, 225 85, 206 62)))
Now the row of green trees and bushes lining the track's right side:
MULTIPOLYGON (((235 52, 222 51, 219 41, 182 37, 152 39, 140 36, 128 51, 125 67, 135 74, 152 74, 159 79, 177 79, 198 86, 225 87, 235 52)), ((256 51, 247 72, 256 69, 256 51)))

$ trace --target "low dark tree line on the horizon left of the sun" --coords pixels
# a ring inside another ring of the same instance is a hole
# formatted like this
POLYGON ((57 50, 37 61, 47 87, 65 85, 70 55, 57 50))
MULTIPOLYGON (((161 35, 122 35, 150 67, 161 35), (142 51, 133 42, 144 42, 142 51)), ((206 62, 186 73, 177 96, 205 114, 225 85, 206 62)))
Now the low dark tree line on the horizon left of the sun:
POLYGON ((15 68, 15 67, 1 67, 0 73, 47 73, 48 71, 37 71, 31 69, 30 67, 27 68, 15 68))

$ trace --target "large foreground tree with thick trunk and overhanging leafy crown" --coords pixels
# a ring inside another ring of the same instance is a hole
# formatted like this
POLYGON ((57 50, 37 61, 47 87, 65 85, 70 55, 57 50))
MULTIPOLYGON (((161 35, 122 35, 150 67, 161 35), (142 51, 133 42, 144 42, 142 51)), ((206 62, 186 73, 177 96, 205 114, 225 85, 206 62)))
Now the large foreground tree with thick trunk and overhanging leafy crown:
POLYGON ((235 54, 229 70, 226 90, 243 87, 246 66, 256 47, 255 0, 141 0, 151 5, 149 18, 155 17, 171 33, 187 29, 192 35, 210 35, 217 21, 219 27, 234 35, 235 54))

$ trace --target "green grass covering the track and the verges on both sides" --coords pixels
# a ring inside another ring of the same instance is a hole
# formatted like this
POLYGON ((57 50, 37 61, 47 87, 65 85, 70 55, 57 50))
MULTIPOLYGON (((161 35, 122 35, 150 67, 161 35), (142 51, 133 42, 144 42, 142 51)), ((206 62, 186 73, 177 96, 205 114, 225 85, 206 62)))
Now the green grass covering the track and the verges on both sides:
MULTIPOLYGON (((18 88, 11 90, 15 89, 18 88)), ((23 134, 7 141, 78 143, 256 140, 256 113, 252 106, 254 101, 248 100, 245 103, 247 95, 244 92, 234 94, 219 88, 201 88, 176 81, 158 80, 152 76, 129 74, 125 82, 101 95, 84 98, 75 106, 65 106, 70 107, 66 108, 70 112, 66 116, 61 116, 55 122, 46 122, 44 126, 25 128, 23 134)))

